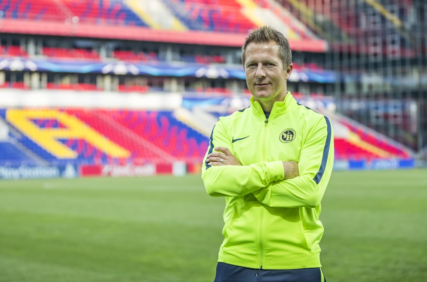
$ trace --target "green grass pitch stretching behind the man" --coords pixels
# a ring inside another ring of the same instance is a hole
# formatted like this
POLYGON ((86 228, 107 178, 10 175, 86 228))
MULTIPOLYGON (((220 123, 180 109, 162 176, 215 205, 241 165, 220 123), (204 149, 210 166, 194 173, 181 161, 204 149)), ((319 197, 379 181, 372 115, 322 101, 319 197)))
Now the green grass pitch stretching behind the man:
MULTIPOLYGON (((426 170, 334 172, 328 282, 426 282, 426 202, 426 170)), ((223 209, 199 175, 0 181, 0 282, 211 282, 223 209)))

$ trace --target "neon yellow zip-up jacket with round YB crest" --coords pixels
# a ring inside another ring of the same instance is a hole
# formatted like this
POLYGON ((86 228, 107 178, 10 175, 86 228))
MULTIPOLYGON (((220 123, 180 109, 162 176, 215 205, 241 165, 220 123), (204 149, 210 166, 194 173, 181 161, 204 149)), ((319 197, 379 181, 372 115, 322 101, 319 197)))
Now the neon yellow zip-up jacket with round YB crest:
POLYGON ((288 92, 266 119, 258 102, 220 117, 208 151, 226 147, 242 166, 211 166, 202 179, 211 196, 225 197, 224 242, 218 261, 249 268, 320 267, 320 200, 334 162, 331 123, 288 92), (299 176, 283 180, 282 161, 299 176))

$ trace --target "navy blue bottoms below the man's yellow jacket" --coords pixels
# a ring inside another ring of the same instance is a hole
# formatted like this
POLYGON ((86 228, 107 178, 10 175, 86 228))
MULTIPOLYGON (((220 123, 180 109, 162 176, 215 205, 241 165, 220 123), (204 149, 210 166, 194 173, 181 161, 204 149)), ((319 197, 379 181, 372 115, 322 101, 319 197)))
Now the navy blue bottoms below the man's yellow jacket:
POLYGON ((320 268, 253 269, 218 262, 214 282, 326 282, 320 268))

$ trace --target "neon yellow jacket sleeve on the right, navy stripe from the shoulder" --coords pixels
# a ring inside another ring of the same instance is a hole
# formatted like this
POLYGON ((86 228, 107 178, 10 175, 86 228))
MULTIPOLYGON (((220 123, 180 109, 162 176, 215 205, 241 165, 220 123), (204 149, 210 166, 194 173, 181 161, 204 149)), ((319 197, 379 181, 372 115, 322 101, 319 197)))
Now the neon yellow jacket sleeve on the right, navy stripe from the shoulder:
POLYGON ((301 149, 299 176, 275 181, 253 192, 271 207, 316 207, 325 193, 334 163, 334 134, 327 117, 309 133, 301 149))

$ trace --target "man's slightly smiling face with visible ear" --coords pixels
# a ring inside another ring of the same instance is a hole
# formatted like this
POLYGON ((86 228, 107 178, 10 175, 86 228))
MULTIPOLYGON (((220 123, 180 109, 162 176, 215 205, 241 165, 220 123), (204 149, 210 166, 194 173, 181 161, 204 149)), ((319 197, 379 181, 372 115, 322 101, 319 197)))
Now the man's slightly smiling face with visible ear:
POLYGON ((276 42, 247 44, 244 64, 247 87, 255 101, 285 99, 292 64, 284 69, 276 42))

